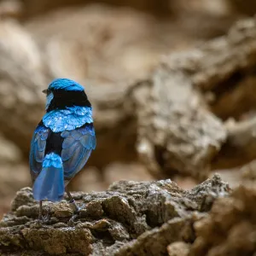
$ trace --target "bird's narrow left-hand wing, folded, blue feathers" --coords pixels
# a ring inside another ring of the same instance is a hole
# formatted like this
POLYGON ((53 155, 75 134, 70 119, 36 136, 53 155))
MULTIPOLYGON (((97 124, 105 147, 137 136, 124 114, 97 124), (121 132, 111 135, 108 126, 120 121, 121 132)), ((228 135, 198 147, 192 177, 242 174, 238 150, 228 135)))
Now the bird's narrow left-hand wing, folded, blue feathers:
POLYGON ((49 128, 40 124, 34 131, 29 154, 29 165, 32 179, 37 177, 39 172, 42 170, 46 140, 49 137, 49 134, 49 128))

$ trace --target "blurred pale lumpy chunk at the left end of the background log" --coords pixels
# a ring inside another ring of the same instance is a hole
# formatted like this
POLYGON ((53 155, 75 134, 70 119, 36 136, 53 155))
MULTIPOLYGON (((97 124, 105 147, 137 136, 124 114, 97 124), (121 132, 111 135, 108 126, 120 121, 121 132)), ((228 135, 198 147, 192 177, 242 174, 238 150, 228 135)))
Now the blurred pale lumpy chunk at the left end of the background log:
POLYGON ((207 177, 226 130, 189 76, 162 63, 131 94, 137 108, 137 151, 148 170, 156 177, 176 172, 207 177))

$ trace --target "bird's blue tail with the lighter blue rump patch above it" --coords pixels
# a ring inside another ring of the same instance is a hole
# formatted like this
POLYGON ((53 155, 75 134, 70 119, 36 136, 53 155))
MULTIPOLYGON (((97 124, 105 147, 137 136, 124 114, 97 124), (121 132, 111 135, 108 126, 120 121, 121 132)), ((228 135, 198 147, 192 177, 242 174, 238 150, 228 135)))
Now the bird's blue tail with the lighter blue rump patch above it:
POLYGON ((64 171, 61 156, 46 154, 43 168, 33 185, 33 196, 37 201, 61 201, 64 195, 64 171))

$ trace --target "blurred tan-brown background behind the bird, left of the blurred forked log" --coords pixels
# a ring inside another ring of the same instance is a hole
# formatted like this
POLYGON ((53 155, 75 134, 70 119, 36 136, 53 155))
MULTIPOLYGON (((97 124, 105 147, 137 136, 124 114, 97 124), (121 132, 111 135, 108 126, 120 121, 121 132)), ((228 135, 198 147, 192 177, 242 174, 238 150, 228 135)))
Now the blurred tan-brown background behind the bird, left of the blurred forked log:
MULTIPOLYGON (((125 94, 163 56, 221 37, 255 11, 253 0, 0 1, 0 216, 15 192, 31 185, 30 140, 44 114, 41 91, 52 79, 77 80, 94 107, 97 148, 70 189, 154 180, 138 159, 137 123, 125 94)), ((222 173, 239 182, 233 169, 222 173)), ((199 183, 169 176, 185 189, 199 183)))

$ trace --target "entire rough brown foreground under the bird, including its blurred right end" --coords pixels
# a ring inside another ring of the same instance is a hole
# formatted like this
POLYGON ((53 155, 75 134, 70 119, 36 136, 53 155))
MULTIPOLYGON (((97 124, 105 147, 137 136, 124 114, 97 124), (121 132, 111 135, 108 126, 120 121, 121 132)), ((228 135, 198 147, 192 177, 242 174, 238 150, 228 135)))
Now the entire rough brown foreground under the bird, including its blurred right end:
POLYGON ((67 201, 44 202, 36 220, 31 189, 21 189, 0 222, 3 255, 254 255, 255 183, 231 191, 218 176, 183 190, 170 180, 119 182, 73 194, 86 204, 75 222, 67 201))

